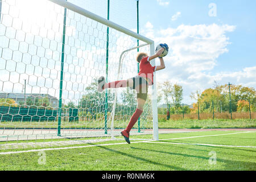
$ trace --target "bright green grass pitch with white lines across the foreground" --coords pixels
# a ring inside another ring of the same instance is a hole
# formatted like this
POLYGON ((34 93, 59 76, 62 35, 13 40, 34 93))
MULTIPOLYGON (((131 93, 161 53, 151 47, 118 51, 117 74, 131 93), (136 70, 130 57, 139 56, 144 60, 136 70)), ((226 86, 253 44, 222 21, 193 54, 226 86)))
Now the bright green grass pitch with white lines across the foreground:
POLYGON ((44 151, 45 164, 38 162, 39 151, 6 155, 1 153, 0 170, 256 169, 255 131, 160 134, 159 141, 154 142, 131 140, 131 144, 127 144, 120 140, 68 147, 76 148, 44 151))

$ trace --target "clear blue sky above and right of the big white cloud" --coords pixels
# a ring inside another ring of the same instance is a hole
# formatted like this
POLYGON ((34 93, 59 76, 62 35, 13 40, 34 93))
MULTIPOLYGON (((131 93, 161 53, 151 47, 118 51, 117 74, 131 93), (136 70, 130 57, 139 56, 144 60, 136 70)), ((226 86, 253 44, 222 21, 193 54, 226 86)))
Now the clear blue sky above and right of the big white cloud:
MULTIPOLYGON (((221 62, 215 71, 233 71, 243 67, 253 67, 256 64, 256 1, 164 1, 168 5, 160 6, 157 1, 140 1, 141 28, 148 21, 157 29, 177 27, 180 24, 230 24, 236 26, 236 31, 229 32, 229 53, 221 55, 221 62), (208 15, 210 3, 216 3, 217 16, 208 15), (157 7, 157 8, 156 8, 157 7), (148 13, 150 12, 150 13, 148 13), (177 20, 171 21, 171 16, 180 12, 177 20), (163 18, 160 18, 163 17, 163 18)), ((170 45, 171 47, 171 45, 170 45)))

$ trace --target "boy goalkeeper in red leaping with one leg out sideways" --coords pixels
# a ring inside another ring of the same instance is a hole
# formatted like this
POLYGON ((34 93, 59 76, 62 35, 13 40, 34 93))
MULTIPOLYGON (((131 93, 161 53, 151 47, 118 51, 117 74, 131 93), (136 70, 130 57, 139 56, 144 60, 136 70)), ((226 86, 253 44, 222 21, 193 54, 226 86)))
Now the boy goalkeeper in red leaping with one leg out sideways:
POLYGON ((102 92, 106 88, 121 88, 121 87, 130 87, 130 89, 135 89, 137 91, 137 109, 133 116, 130 119, 129 124, 126 129, 121 131, 122 136, 125 138, 127 143, 130 143, 129 136, 130 130, 138 121, 139 117, 143 112, 144 104, 147 100, 147 90, 148 85, 153 85, 153 76, 155 71, 159 71, 165 68, 163 57, 163 51, 166 49, 168 51, 169 47, 167 44, 160 44, 162 48, 156 52, 155 55, 148 56, 147 53, 139 52, 137 55, 137 61, 139 63, 139 73, 138 76, 129 78, 128 80, 119 80, 114 82, 105 82, 105 77, 101 76, 98 78, 98 91, 102 92), (159 57, 160 65, 152 67, 150 61, 159 57))

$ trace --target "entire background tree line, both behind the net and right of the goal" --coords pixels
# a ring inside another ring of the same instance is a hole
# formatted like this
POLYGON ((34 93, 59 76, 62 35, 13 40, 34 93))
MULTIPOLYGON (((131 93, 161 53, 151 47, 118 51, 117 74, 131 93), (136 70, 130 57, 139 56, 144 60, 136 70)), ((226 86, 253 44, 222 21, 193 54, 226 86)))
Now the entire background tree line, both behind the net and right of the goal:
MULTIPOLYGON (((93 82, 85 88, 85 94, 77 102, 78 104, 69 101, 68 104, 63 103, 63 107, 65 109, 80 109, 85 114, 88 112, 102 113, 103 111, 112 111, 114 91, 108 89, 108 98, 106 98, 106 93, 98 92, 97 86, 97 80, 93 80, 93 82), (106 99, 108 99, 108 102, 106 102, 106 99)), ((200 90, 192 92, 190 97, 196 102, 192 105, 183 104, 183 86, 172 84, 170 81, 160 82, 158 84, 158 103, 162 101, 167 108, 159 108, 159 113, 166 113, 167 109, 169 109, 169 105, 170 113, 172 114, 196 113, 198 107, 201 113, 209 113, 212 112, 213 109, 214 112, 225 112, 230 110, 230 106, 233 112, 247 112, 249 109, 251 111, 256 111, 255 89, 242 85, 215 84, 213 88, 205 89, 203 92, 200 90)), ((150 96, 148 98, 150 98, 150 96)), ((147 104, 150 104, 149 102, 151 102, 150 99, 147 100, 147 104)), ((0 106, 25 107, 25 105, 30 106, 31 108, 53 109, 48 97, 28 97, 26 99, 26 104, 24 101, 20 101, 19 104, 16 104, 12 99, 0 98, 0 106)), ((122 110, 123 114, 132 113, 136 107, 137 99, 135 90, 130 90, 129 88, 124 89, 117 100, 117 106, 115 107, 116 111, 122 110)))

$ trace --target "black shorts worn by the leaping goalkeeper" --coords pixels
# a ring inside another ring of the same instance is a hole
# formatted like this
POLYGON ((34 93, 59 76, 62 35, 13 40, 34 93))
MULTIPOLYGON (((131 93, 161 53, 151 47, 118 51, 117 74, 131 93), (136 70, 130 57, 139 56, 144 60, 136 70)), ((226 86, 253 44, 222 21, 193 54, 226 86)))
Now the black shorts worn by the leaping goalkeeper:
POLYGON ((130 89, 137 90, 137 98, 141 98, 146 101, 148 92, 148 83, 146 78, 141 76, 135 76, 130 79, 133 79, 133 86, 130 86, 130 89))

